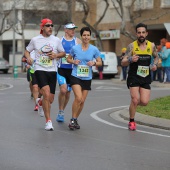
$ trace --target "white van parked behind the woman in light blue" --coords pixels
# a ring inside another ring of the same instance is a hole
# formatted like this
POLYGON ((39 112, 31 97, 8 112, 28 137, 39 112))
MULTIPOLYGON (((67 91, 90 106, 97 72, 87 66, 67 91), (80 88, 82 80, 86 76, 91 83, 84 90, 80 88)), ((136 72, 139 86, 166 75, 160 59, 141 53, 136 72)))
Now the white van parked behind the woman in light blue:
MULTIPOLYGON (((111 77, 115 77, 116 74, 118 74, 118 61, 117 61, 117 56, 114 52, 101 52, 101 58, 104 61, 104 66, 103 66, 103 76, 104 75, 109 75, 111 77)), ((92 67, 93 71, 93 78, 98 75, 98 70, 96 66, 92 67)))

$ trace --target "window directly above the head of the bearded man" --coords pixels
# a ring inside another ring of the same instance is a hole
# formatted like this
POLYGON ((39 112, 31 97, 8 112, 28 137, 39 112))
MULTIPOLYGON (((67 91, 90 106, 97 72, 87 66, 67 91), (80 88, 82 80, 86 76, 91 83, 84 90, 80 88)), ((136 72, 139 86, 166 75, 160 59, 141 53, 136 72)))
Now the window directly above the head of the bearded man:
POLYGON ((153 8, 153 0, 136 0, 134 3, 134 10, 144 10, 144 9, 152 9, 153 8))

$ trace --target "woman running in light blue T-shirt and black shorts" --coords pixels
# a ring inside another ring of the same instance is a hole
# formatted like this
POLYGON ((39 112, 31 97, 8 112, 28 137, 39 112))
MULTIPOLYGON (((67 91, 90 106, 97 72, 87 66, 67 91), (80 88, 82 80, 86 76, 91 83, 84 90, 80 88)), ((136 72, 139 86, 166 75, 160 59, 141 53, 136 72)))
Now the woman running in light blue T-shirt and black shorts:
POLYGON ((69 124, 70 130, 80 129, 77 118, 83 109, 88 91, 91 90, 92 66, 102 65, 98 48, 89 43, 90 28, 83 27, 80 30, 80 35, 82 44, 74 46, 67 57, 67 62, 73 64, 70 84, 75 96, 69 124))

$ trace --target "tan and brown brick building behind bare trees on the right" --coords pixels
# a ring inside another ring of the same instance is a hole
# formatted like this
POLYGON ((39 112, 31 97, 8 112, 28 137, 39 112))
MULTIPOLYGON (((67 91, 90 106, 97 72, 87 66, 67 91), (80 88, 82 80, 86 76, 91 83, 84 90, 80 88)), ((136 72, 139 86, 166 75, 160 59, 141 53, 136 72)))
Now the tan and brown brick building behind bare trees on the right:
MULTIPOLYGON (((126 29, 131 34, 135 35, 134 25, 143 22, 148 26, 148 40, 154 42, 155 44, 160 43, 161 38, 169 39, 168 30, 165 28, 165 23, 170 23, 170 1, 167 0, 136 0, 133 5, 131 5, 132 0, 125 0, 123 2, 124 6, 124 16, 126 21, 126 29), (128 13, 129 8, 133 14, 134 20, 130 20, 128 13), (134 25, 131 24, 133 21, 134 25)), ((98 10, 97 16, 102 11, 104 2, 98 0, 98 10)), ((120 30, 122 17, 118 15, 116 8, 119 10, 119 5, 116 4, 114 7, 112 1, 109 1, 109 9, 99 25, 99 30, 101 31, 111 31, 120 30)), ((118 39, 108 39, 103 40, 104 51, 114 51, 117 55, 121 54, 121 49, 127 47, 129 43, 133 40, 120 34, 118 39)))

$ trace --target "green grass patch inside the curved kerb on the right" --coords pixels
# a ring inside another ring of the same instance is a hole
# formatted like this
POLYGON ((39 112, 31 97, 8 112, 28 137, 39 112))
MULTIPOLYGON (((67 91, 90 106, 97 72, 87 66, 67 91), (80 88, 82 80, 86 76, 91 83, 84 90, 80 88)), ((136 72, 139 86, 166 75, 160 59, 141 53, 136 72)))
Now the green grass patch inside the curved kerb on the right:
POLYGON ((170 96, 151 100, 147 106, 138 106, 137 112, 158 118, 170 119, 170 96))

